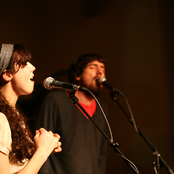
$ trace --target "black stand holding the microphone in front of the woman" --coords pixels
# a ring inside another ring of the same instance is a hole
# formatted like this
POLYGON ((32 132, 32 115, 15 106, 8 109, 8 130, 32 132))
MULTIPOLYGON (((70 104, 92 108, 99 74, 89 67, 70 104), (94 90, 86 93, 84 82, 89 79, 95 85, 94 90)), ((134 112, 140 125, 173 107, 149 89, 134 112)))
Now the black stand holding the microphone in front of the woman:
POLYGON ((119 144, 118 143, 114 143, 111 142, 111 140, 107 137, 107 135, 100 129, 100 127, 94 122, 94 120, 90 117, 90 115, 86 112, 86 110, 79 104, 79 99, 75 96, 75 91, 71 91, 68 92, 68 96, 71 99, 72 103, 75 104, 76 106, 78 106, 83 112, 84 114, 92 121, 92 123, 96 126, 96 128, 103 134, 103 136, 107 139, 108 144, 113 148, 114 152, 120 156, 125 162, 126 164, 131 168, 131 170, 135 173, 135 174, 139 174, 139 172, 133 167, 132 163, 130 160, 128 160, 122 153, 121 151, 118 149, 119 144))

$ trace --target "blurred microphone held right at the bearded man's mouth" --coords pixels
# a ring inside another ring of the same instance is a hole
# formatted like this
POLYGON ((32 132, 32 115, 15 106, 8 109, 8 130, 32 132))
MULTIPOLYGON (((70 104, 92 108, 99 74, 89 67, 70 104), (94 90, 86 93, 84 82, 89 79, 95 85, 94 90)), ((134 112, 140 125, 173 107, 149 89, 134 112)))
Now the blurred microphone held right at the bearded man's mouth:
POLYGON ((109 89, 110 92, 112 92, 112 93, 117 93, 117 94, 119 94, 120 96, 123 96, 123 94, 122 94, 118 89, 114 88, 113 86, 111 86, 111 85, 107 82, 107 80, 106 80, 105 77, 100 76, 99 79, 97 80, 97 84, 98 84, 98 85, 103 84, 104 86, 106 86, 106 87, 109 89))

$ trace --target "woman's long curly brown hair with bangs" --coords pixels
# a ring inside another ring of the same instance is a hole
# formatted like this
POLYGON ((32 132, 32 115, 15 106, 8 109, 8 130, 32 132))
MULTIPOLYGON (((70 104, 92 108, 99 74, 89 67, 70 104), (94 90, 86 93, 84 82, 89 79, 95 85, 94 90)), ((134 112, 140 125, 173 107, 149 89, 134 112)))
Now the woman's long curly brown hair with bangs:
MULTIPOLYGON (((15 44, 12 57, 10 59, 7 71, 11 74, 16 73, 16 67, 26 65, 31 61, 31 53, 21 44, 15 44)), ((4 83, 2 78, 0 86, 4 83)), ((4 113, 8 119, 12 132, 12 151, 9 154, 11 163, 22 163, 27 158, 30 159, 35 152, 35 145, 32 141, 31 131, 26 124, 26 118, 21 112, 12 108, 3 94, 0 92, 0 112, 4 113)))

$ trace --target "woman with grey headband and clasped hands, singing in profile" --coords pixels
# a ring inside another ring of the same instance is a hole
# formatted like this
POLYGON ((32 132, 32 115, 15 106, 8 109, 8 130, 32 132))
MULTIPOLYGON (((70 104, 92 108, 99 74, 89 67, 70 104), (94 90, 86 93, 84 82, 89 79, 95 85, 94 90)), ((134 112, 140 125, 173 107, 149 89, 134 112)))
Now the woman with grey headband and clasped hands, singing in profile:
POLYGON ((41 128, 34 142, 16 108, 20 95, 33 91, 31 54, 20 44, 0 45, 0 173, 37 174, 48 156, 60 152, 60 136, 41 128))

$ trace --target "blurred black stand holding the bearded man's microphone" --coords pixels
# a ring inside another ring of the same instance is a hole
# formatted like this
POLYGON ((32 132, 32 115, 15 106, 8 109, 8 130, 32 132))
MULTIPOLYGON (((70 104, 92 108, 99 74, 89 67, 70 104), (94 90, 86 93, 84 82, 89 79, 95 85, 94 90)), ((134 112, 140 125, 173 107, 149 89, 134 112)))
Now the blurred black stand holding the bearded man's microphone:
MULTIPOLYGON (((111 98, 118 104, 118 106, 120 107, 120 109, 124 112, 124 114, 128 117, 129 122, 133 125, 133 121, 132 118, 126 113, 126 111, 123 109, 123 107, 120 105, 120 103, 118 102, 115 94, 118 94, 122 97, 123 94, 116 88, 113 88, 112 90, 110 90, 110 95, 111 98)), ((152 149, 153 151, 153 155, 156 155, 157 158, 159 158, 160 164, 165 168, 165 170, 169 173, 169 174, 174 174, 174 172, 172 171, 172 169, 167 165, 167 163, 164 161, 164 159, 161 157, 161 155, 159 153, 157 153, 155 146, 150 143, 145 136, 143 135, 143 133, 139 130, 139 128, 137 127, 138 130, 138 134, 144 139, 144 141, 147 143, 147 145, 152 149)), ((160 168, 158 168, 157 166, 157 162, 153 162, 153 167, 155 169, 155 171, 158 171, 160 174, 160 168)))

